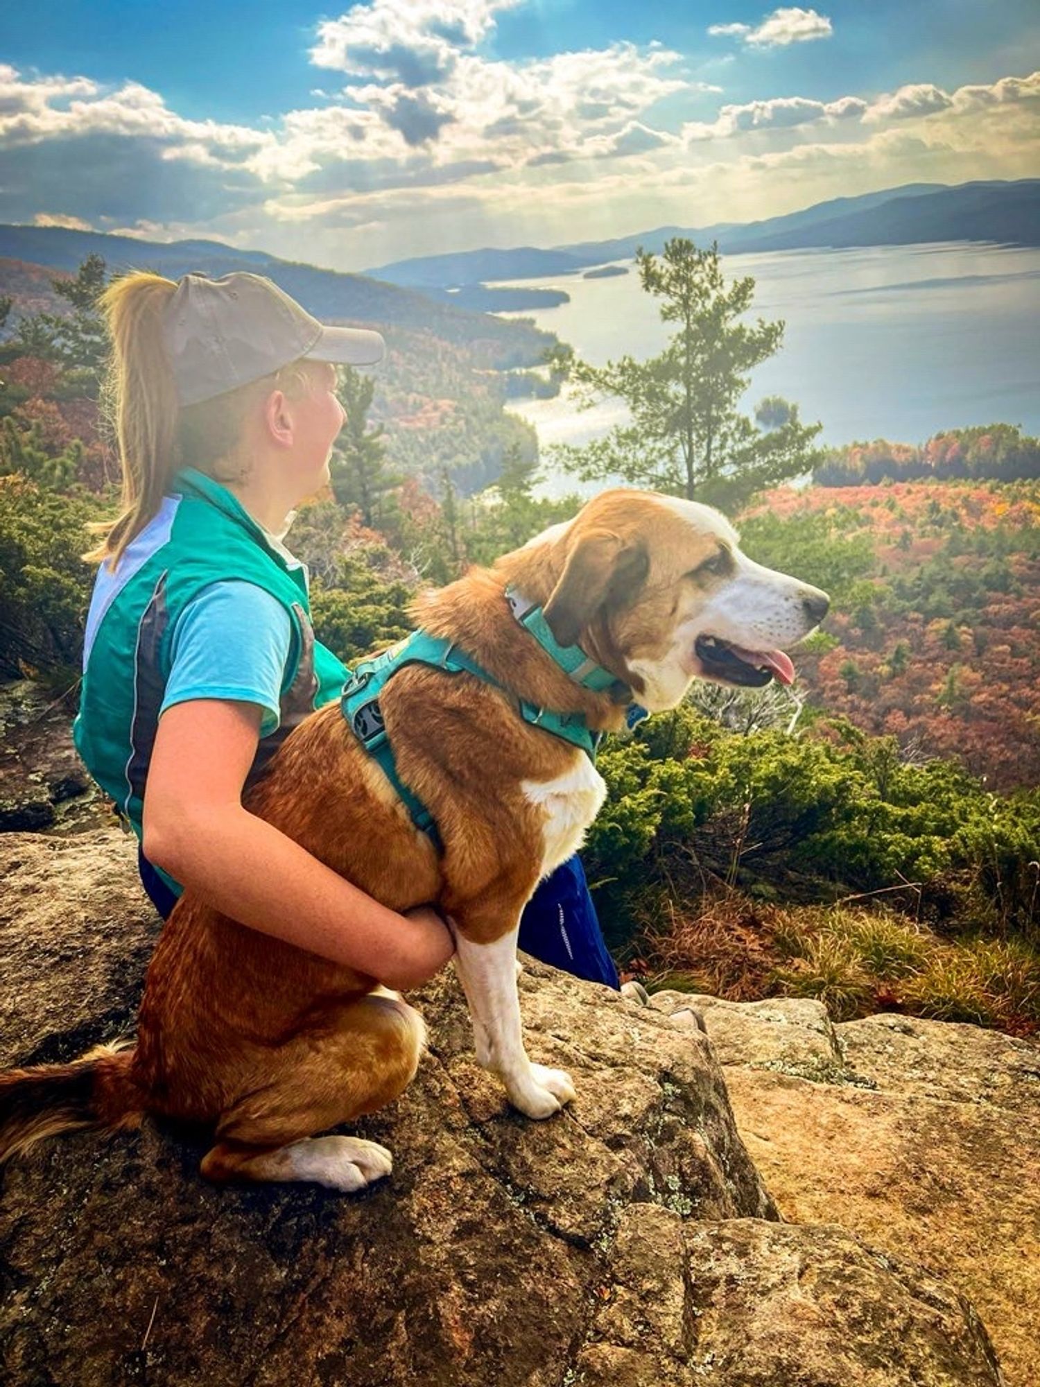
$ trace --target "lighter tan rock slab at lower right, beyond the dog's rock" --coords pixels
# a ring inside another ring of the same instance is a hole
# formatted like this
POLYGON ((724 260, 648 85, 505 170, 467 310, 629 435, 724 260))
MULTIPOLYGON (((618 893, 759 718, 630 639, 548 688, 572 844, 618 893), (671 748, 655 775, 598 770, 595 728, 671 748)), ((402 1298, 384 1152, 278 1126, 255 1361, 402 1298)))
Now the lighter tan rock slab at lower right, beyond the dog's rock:
MULTIPOLYGON (((810 1000, 695 1006, 781 1214, 914 1258, 971 1297, 1008 1383, 1040 1383, 1040 1044, 810 1000)), ((689 1025, 682 1014, 678 1025, 689 1025)))

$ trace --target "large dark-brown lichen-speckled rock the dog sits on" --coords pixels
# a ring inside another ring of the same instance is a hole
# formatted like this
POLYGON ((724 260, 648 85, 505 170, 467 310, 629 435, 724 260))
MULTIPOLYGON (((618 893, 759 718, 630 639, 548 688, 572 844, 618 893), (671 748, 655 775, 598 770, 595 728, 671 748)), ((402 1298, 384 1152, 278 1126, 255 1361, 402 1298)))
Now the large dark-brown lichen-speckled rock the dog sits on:
MULTIPOLYGON (((157 928, 118 831, 0 838, 3 1062, 129 1022, 157 928), (122 902, 122 907, 121 907, 122 902), (33 940, 37 947, 33 947, 33 940)), ((512 1112, 473 1060, 451 976, 419 999, 431 1051, 362 1135, 362 1196, 215 1190, 204 1136, 76 1133, 0 1200, 0 1375, 17 1387, 994 1387, 955 1289, 835 1227, 783 1226, 709 1040, 541 965, 534 1058, 578 1100, 512 1112)))

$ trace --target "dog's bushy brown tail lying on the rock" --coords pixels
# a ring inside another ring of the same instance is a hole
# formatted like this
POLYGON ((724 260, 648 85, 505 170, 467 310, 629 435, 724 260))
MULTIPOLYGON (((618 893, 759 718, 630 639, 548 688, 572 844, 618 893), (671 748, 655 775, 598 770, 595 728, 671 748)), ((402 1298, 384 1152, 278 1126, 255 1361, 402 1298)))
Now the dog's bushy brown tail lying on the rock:
POLYGON ((36 1064, 0 1074, 0 1165, 60 1132, 136 1126, 144 1094, 132 1064, 132 1043, 115 1040, 72 1064, 36 1064))

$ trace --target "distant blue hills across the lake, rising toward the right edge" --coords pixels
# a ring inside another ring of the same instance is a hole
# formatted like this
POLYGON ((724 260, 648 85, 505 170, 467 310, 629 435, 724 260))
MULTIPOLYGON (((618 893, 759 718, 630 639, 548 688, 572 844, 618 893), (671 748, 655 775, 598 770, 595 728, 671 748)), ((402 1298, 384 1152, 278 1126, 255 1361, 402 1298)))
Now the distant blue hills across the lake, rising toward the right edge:
POLYGON ((580 241, 538 250, 460 251, 395 261, 367 273, 395 284, 445 288, 491 280, 574 275, 591 265, 631 259, 639 247, 660 252, 667 240, 688 236, 700 245, 717 240, 728 254, 803 247, 897 245, 922 241, 998 241, 1040 245, 1040 179, 1021 182, 908 183, 904 187, 832 198, 761 222, 659 226, 607 241, 580 241))

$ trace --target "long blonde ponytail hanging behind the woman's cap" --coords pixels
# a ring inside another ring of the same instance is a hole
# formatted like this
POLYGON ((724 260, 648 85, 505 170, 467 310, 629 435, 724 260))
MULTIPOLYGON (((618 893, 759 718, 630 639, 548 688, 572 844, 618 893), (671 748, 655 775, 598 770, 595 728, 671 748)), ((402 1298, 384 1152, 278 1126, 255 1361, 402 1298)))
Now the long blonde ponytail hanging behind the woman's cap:
POLYGON ((176 284, 137 272, 101 294, 112 352, 105 405, 122 466, 122 510, 104 541, 85 555, 115 567, 126 545, 151 520, 175 470, 177 393, 162 345, 162 312, 176 284))

